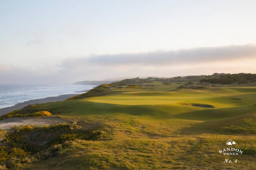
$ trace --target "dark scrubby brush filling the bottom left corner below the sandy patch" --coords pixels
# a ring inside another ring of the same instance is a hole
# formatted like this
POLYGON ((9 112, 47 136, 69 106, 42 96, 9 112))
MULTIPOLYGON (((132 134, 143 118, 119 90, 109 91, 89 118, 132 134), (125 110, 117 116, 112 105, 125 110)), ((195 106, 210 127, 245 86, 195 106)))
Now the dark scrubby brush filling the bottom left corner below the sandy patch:
POLYGON ((67 141, 97 140, 100 131, 83 130, 77 125, 56 124, 52 126, 14 126, 5 133, 0 146, 2 169, 17 168, 45 160, 63 149, 67 141), (66 142, 66 143, 65 143, 66 142))

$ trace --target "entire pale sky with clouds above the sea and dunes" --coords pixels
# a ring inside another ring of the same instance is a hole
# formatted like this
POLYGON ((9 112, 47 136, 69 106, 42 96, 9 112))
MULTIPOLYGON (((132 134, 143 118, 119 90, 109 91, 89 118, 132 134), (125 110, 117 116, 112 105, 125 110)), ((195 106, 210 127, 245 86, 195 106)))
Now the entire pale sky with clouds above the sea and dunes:
POLYGON ((0 84, 256 73, 255 0, 0 0, 0 84))

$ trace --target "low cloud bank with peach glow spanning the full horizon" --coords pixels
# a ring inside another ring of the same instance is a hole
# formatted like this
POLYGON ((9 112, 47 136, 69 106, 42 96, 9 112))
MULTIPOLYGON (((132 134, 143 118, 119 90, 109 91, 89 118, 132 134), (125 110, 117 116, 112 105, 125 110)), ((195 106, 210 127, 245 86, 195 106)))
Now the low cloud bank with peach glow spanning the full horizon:
POLYGON ((0 83, 73 83, 111 77, 173 77, 214 72, 256 73, 256 45, 93 55, 69 58, 56 67, 37 70, 0 65, 0 83))

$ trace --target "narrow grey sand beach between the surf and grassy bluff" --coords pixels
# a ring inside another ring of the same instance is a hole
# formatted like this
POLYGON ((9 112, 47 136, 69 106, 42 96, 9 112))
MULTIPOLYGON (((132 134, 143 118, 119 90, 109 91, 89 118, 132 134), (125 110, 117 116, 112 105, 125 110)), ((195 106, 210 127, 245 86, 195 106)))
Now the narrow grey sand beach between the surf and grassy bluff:
POLYGON ((28 100, 26 102, 17 103, 14 106, 4 107, 4 108, 0 109, 0 116, 7 114, 9 112, 12 112, 14 110, 17 110, 17 109, 22 109, 23 107, 25 107, 27 105, 42 104, 42 103, 48 103, 48 102, 61 102, 68 98, 71 98, 75 95, 79 95, 79 94, 64 94, 64 95, 59 95, 59 96, 54 96, 54 97, 40 98, 40 99, 28 100))

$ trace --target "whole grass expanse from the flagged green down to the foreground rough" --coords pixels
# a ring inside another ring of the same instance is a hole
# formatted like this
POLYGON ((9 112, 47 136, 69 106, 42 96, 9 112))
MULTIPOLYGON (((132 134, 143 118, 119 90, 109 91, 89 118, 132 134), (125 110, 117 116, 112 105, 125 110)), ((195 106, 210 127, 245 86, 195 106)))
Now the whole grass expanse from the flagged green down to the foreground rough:
POLYGON ((59 151, 59 156, 22 168, 256 169, 256 87, 192 90, 175 89, 180 84, 148 85, 111 89, 113 93, 107 96, 26 107, 27 111, 47 109, 84 128, 101 130, 104 137, 75 140, 59 151), (244 153, 218 154, 228 139, 235 140, 235 147, 244 153), (225 158, 238 161, 223 164, 225 158))

